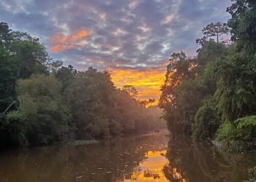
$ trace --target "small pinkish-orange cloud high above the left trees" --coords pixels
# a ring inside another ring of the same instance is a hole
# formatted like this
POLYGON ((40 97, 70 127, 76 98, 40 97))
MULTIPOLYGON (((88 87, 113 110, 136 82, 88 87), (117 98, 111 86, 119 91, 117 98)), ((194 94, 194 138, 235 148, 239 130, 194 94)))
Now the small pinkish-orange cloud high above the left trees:
POLYGON ((70 50, 75 48, 80 48, 86 46, 86 44, 81 43, 86 36, 89 36, 91 31, 87 28, 81 28, 74 33, 69 35, 64 35, 63 33, 56 32, 53 36, 48 39, 50 43, 51 52, 61 52, 64 50, 70 50))

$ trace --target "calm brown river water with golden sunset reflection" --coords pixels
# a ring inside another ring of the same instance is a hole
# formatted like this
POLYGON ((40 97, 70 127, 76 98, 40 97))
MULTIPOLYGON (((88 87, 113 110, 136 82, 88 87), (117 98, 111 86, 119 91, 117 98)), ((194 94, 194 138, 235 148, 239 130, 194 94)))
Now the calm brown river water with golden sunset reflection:
POLYGON ((1 182, 240 182, 256 154, 232 154, 166 130, 80 146, 0 152, 1 182))

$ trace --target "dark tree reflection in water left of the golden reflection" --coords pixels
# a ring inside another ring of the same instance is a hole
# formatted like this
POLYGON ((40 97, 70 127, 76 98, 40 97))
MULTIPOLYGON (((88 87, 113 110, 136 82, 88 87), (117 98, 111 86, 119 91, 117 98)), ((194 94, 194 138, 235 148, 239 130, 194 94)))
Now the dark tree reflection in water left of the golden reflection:
MULTIPOLYGON (((159 136, 160 137, 160 136, 159 136)), ((162 138, 118 138, 89 146, 40 146, 0 156, 0 181, 118 181, 129 176, 162 138)))

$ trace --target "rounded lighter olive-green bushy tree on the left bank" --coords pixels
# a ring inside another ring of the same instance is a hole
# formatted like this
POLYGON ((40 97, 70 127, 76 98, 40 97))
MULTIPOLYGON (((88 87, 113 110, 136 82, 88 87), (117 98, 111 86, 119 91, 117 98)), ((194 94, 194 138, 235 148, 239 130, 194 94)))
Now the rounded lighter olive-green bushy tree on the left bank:
MULTIPOLYGON (((32 75, 18 81, 21 106, 18 111, 8 113, 7 122, 17 124, 17 135, 24 138, 18 137, 20 146, 25 144, 23 141, 42 144, 62 140, 67 134, 69 110, 61 100, 61 87, 54 76, 32 75)), ((12 125, 7 127, 12 130, 12 125)))

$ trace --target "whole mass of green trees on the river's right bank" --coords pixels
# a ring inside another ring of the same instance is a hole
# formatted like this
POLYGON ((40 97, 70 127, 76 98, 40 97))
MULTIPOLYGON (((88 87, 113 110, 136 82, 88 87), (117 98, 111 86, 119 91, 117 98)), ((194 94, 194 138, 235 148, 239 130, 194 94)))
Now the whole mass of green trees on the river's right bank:
POLYGON ((195 58, 173 53, 159 106, 173 134, 256 146, 256 1, 234 0, 227 23, 211 23, 195 58), (222 36, 225 35, 226 36, 222 36), (231 37, 227 39, 227 34, 231 37))

